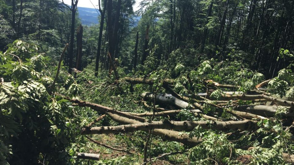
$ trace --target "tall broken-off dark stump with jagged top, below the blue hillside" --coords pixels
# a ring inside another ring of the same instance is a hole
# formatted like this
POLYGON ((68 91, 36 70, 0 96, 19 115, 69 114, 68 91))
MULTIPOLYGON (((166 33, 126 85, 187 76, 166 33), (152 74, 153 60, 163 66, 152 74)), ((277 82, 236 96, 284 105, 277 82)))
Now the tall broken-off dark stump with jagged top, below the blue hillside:
POLYGON ((77 62, 76 69, 82 69, 82 48, 83 48, 83 27, 82 24, 77 28, 77 62))

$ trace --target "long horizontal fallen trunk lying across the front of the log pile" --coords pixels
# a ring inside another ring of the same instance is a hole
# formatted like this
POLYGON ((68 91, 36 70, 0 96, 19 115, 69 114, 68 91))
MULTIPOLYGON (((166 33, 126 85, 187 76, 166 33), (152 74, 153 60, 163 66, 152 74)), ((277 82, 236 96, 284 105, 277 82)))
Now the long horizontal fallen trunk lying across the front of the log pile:
POLYGON ((206 121, 153 121, 152 123, 138 123, 129 125, 120 125, 113 127, 92 127, 88 133, 85 134, 115 134, 115 133, 129 133, 138 130, 150 129, 173 129, 173 130, 187 130, 191 131, 195 127, 201 126, 203 129, 213 130, 257 130, 257 122, 252 120, 243 121, 214 121, 207 123, 206 121))

